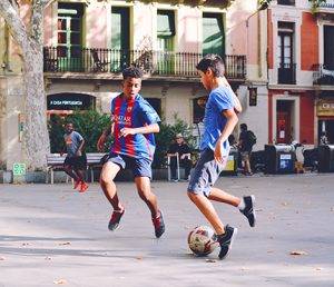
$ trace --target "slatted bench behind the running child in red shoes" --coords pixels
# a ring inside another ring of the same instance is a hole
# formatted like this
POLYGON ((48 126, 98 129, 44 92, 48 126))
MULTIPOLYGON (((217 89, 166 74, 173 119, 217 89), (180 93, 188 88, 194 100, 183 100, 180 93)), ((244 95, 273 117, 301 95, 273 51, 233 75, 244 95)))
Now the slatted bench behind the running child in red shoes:
MULTIPOLYGON (((87 156, 87 170, 90 171, 90 180, 94 182, 94 169, 97 167, 101 167, 100 160, 106 154, 99 152, 88 152, 87 156)), ((51 185, 55 182, 55 170, 63 170, 63 161, 66 156, 60 156, 60 154, 50 154, 47 155, 47 177, 46 182, 48 184, 49 174, 51 176, 51 185)), ((68 182, 68 178, 66 178, 66 182, 68 182)))

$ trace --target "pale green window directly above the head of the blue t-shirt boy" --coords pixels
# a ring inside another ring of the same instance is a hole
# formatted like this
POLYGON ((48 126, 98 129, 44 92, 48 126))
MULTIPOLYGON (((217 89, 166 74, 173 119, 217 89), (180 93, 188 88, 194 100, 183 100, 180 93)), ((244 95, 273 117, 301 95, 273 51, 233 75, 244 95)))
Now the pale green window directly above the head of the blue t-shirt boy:
POLYGON ((225 55, 223 14, 203 13, 203 53, 225 55))

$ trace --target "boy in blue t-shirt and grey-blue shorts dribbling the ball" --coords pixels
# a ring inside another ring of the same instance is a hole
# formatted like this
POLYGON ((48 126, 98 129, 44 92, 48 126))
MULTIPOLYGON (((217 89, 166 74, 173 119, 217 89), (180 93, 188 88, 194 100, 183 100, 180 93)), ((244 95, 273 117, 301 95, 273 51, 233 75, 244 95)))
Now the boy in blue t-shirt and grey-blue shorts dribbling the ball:
POLYGON ((242 106, 224 77, 225 66, 219 56, 205 56, 196 68, 209 96, 205 107, 200 157, 191 171, 187 191, 190 200, 215 229, 220 245, 219 258, 223 259, 232 247, 237 228, 223 225, 210 200, 238 207, 254 227, 255 197, 237 198, 213 187, 226 166, 229 154, 228 137, 238 122, 236 113, 242 111, 242 106))

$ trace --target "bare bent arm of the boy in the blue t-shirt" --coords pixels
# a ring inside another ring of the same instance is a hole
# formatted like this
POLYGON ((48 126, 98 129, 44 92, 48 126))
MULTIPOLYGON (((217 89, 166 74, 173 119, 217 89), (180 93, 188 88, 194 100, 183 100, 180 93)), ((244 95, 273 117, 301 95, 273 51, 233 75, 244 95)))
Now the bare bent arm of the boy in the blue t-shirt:
POLYGON ((238 117, 235 113, 234 109, 224 110, 223 113, 227 121, 215 147, 215 159, 220 164, 223 164, 224 161, 222 154, 223 142, 228 139, 229 135, 233 132, 236 123, 238 122, 238 117))

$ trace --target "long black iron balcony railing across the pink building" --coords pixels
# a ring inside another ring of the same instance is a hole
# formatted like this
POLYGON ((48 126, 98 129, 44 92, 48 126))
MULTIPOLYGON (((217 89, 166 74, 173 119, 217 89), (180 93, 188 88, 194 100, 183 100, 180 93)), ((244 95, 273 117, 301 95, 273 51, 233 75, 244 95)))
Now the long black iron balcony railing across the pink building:
MULTIPOLYGON (((53 76, 65 73, 90 77, 115 78, 130 65, 141 68, 148 78, 174 78, 179 80, 198 79, 196 65, 202 53, 111 50, 66 47, 43 48, 43 70, 53 76)), ((225 56, 226 77, 245 80, 246 56, 225 56)))

